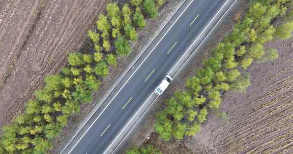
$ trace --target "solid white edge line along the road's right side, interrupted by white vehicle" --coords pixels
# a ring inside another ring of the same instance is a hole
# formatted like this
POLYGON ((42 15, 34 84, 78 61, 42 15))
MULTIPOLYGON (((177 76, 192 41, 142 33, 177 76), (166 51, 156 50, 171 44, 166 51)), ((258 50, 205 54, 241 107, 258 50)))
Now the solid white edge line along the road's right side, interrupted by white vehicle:
MULTIPOLYGON (((228 8, 228 10, 223 14, 223 16, 225 16, 226 15, 226 13, 230 10, 230 8, 233 6, 233 4, 235 4, 236 3, 236 1, 237 0, 235 0, 233 3, 232 3, 232 5, 228 8)), ((229 0, 227 0, 226 2, 225 2, 225 4, 220 8, 220 10, 217 12, 217 14, 214 16, 214 18, 210 21, 210 23, 206 26, 206 28, 211 24, 211 22, 215 19, 215 17, 220 13, 220 11, 224 8, 224 6, 227 4, 229 2, 229 0)), ((217 24, 221 21, 221 19, 223 18, 223 16, 220 18, 220 20, 217 22, 217 24)), ((204 30, 206 29, 206 28, 204 28, 204 30)), ((214 28, 212 28, 212 29, 214 29, 214 28)), ((204 31, 203 30, 203 31, 204 31)), ((201 32, 201 34, 202 34, 203 32, 201 32)), ((199 35, 200 36, 200 35, 199 35)), ((198 37, 199 37, 198 36, 198 37)), ((198 40, 198 37, 196 38, 196 40, 192 43, 192 45, 198 40)), ((190 48, 189 48, 190 49, 190 48)), ((188 50, 189 50, 188 49, 188 50)), ((188 51, 187 50, 187 51, 188 51)), ((185 54, 184 54, 185 55, 185 54)), ((180 58, 180 60, 181 60, 182 58, 180 58)), ((180 61, 179 60, 179 61, 180 61)), ((178 62, 173 66, 173 68, 176 66, 178 64, 178 62)), ((172 69, 173 69, 172 68, 172 69)), ((171 69, 171 70, 172 70, 171 69)), ((171 71, 169 71, 168 72, 168 74, 170 73, 171 71)), ((177 74, 177 73, 176 73, 177 74)), ((152 93, 151 94, 151 96, 153 95, 154 93, 152 93)), ((147 99, 147 101, 151 98, 151 96, 147 99)), ((156 99, 157 99, 158 97, 156 97, 156 99)), ((152 102, 152 104, 156 101, 156 99, 152 102)), ((147 101, 145 101, 145 102, 147 102, 147 101)), ((141 107, 138 109, 138 111, 134 114, 134 116, 130 119, 130 121, 127 123, 127 125, 123 128, 123 130, 122 131, 120 131, 120 133, 118 134, 118 136, 116 136, 116 138, 112 141, 112 143, 107 147, 107 149, 103 152, 103 154, 105 153, 105 152, 107 152, 108 150, 109 150, 109 148, 113 145, 113 143, 118 139, 118 137, 123 133, 123 131, 126 129, 126 127, 130 124, 130 122, 135 118, 135 116, 137 115, 137 113, 140 111, 140 109, 145 105, 145 102, 141 105, 141 107)), ((152 106, 152 104, 151 104, 151 106, 152 106)), ((144 112, 145 113, 145 112, 144 112)), ((143 114, 144 114, 143 113, 143 114)), ((141 117, 140 117, 141 118, 141 117)), ((127 133, 127 135, 128 135, 128 133, 127 133)), ((125 136, 126 137, 126 136, 125 136)), ((123 138, 123 140, 125 139, 125 137, 123 138)), ((119 143, 119 145, 121 144, 121 142, 119 143)), ((119 146, 118 145, 118 146, 119 146)), ((118 147, 118 146, 116 146, 115 147, 115 149, 118 147)), ((114 150, 115 150, 114 149, 114 150)))

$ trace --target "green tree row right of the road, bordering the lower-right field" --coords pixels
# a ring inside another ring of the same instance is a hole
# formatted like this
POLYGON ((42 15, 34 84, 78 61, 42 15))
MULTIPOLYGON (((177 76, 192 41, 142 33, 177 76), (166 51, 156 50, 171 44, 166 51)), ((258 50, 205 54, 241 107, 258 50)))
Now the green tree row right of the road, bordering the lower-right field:
POLYGON ((157 113, 155 131, 165 141, 194 136, 207 120, 208 113, 218 113, 221 96, 228 90, 245 92, 250 86, 246 69, 253 62, 272 61, 278 57, 276 49, 264 44, 273 40, 285 40, 293 31, 292 7, 289 0, 255 0, 246 16, 239 21, 224 40, 213 50, 202 68, 186 81, 186 88, 177 90, 165 101, 157 113), (272 25, 277 18, 285 17, 284 23, 272 25))

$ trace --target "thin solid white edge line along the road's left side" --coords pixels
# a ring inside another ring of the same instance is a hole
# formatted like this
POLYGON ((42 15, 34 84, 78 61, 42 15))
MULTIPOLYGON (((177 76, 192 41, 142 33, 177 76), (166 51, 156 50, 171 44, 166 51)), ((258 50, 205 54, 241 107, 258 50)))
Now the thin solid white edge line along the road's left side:
MULTIPOLYGON (((71 153, 72 150, 74 149, 74 147, 79 143, 79 141, 82 139, 82 137, 87 133, 87 131, 89 131, 91 129, 91 127, 96 123, 96 121, 100 118, 101 114, 107 109, 107 107, 111 104, 111 102, 113 101, 113 99, 120 93, 120 91, 123 89, 123 87, 128 83, 128 81, 131 79, 131 77, 134 75, 134 73, 137 71, 137 69, 142 65, 142 63, 150 56, 150 54, 156 49, 156 47, 159 45, 159 43, 163 40, 163 38, 165 37, 165 35, 170 31, 170 29, 174 26, 174 24, 178 21, 178 19, 182 16, 182 14, 187 10, 187 8, 191 5, 191 3, 194 0, 192 0, 188 6, 183 10, 183 12, 179 15, 179 17, 173 22, 173 24, 169 27, 169 29, 165 32, 165 34, 160 38, 159 42, 156 44, 156 46, 152 49, 152 51, 147 55, 147 57, 145 57, 143 59, 143 61, 139 64, 139 66, 134 70, 134 72, 130 75, 130 77, 128 78, 128 80, 125 82, 125 84, 120 88, 120 90, 114 95, 114 97, 110 100, 110 102, 106 105, 106 107, 102 110, 102 112, 98 115, 97 119, 91 124, 91 126, 89 128, 87 128, 87 130, 83 133, 83 135, 81 136, 81 138, 74 144, 74 146, 71 148, 71 150, 68 152, 71 153)), ((172 18, 172 17, 171 17, 172 18)), ((170 19, 171 19, 170 18, 170 19)), ((169 21, 168 21, 169 22, 169 21)), ((72 140, 71 140, 72 141, 72 140)), ((63 151, 61 153, 64 152, 64 150, 66 149, 66 147, 63 149, 63 151)))

